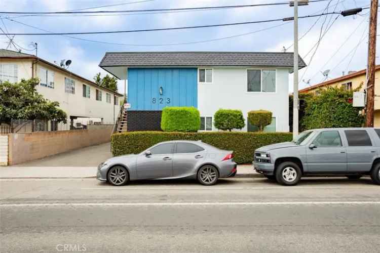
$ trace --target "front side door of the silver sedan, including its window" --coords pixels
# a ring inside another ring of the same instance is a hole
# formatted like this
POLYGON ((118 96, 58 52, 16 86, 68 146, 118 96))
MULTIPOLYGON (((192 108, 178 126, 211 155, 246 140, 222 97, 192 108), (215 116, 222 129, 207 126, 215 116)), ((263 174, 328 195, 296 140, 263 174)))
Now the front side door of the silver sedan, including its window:
POLYGON ((167 178, 173 176, 174 143, 154 146, 149 151, 151 155, 141 154, 137 158, 138 178, 167 178))

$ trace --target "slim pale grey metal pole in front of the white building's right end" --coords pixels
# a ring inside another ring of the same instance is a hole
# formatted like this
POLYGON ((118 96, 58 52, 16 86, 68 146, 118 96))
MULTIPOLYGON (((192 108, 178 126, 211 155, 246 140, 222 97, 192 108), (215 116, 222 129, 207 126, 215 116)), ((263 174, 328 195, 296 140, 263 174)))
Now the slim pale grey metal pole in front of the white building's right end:
POLYGON ((298 0, 294 0, 293 139, 298 135, 298 0))

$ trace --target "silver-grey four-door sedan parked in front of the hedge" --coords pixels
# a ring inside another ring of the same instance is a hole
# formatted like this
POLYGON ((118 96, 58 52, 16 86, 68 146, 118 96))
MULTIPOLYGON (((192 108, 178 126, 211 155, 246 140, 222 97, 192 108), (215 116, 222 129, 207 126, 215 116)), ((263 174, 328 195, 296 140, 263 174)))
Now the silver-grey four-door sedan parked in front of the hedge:
POLYGON ((98 166, 97 179, 120 186, 133 180, 197 179, 214 185, 219 178, 235 176, 233 151, 201 141, 161 142, 140 154, 112 157, 98 166))

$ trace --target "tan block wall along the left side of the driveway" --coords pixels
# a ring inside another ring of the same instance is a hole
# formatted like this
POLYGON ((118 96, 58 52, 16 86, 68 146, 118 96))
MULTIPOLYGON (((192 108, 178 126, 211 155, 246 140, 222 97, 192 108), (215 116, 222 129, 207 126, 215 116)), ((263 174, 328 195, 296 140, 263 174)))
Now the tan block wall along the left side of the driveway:
POLYGON ((8 134, 8 164, 18 164, 110 141, 113 125, 97 130, 8 134))

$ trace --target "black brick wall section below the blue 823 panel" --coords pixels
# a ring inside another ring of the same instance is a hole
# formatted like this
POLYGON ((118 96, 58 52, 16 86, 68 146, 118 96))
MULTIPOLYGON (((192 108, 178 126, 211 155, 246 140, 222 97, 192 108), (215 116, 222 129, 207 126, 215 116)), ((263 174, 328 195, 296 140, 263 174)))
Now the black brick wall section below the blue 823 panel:
POLYGON ((161 131, 162 111, 127 111, 128 131, 161 131))

